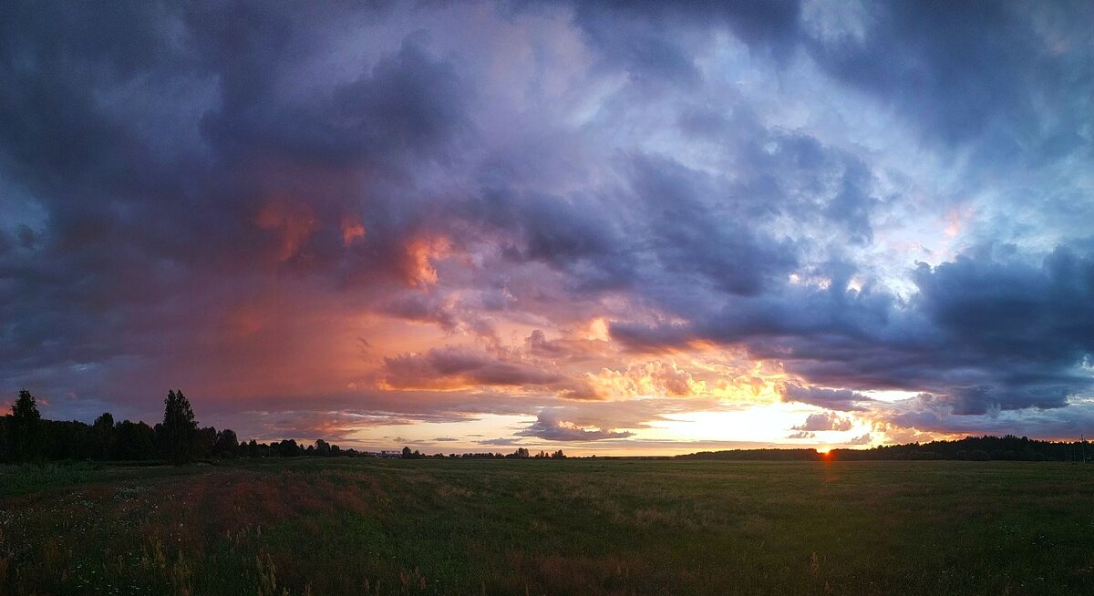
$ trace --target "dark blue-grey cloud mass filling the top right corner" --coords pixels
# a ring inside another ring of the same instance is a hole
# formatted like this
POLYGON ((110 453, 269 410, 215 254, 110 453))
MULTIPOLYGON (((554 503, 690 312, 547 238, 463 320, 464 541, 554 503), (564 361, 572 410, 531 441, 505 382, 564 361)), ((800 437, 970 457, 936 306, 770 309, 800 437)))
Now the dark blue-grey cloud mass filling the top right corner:
POLYGON ((898 109, 927 138, 976 142, 986 166, 1073 151, 1089 156, 1089 139, 1079 132, 1094 97, 1089 4, 808 8, 791 1, 582 2, 574 21, 609 63, 635 78, 694 86, 701 75, 682 40, 724 28, 778 62, 808 57, 835 80, 898 109))

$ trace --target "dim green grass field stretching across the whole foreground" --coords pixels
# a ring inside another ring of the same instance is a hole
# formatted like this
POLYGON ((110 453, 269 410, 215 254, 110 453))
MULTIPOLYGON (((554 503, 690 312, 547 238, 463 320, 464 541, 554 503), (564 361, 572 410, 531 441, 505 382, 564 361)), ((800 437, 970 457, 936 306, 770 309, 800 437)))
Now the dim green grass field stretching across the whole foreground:
POLYGON ((1094 466, 0 467, 0 593, 1091 594, 1094 466))

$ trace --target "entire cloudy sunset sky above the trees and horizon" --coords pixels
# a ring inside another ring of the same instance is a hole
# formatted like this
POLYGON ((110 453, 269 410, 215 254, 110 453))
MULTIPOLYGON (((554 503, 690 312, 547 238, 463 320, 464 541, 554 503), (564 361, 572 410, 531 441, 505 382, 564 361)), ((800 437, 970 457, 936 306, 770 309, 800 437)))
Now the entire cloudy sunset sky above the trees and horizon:
POLYGON ((1094 434, 1090 2, 3 2, 0 406, 1094 434))

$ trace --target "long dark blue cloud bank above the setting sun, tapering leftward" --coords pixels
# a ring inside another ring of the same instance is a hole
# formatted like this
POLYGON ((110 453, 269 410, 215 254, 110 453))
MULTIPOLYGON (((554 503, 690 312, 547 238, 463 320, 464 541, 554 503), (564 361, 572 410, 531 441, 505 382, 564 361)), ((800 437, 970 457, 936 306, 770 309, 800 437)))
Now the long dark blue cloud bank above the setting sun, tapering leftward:
MULTIPOLYGON (((959 256, 912 279, 916 297, 853 291, 784 292, 734 304, 690 324, 612 326, 636 346, 695 339, 743 342, 783 359, 813 383, 852 389, 938 394, 954 413, 1060 408, 1094 378, 1094 258, 1060 247, 1040 266, 990 252, 959 256)), ((851 390, 788 387, 791 400, 834 409, 862 406, 851 390)))

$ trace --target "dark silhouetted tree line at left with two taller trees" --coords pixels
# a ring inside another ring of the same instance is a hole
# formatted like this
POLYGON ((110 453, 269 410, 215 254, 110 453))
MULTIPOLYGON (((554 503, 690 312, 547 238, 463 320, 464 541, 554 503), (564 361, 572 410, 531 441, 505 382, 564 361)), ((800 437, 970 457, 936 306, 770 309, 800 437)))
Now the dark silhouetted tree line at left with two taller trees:
POLYGON ((298 444, 292 439, 269 444, 254 439, 241 443, 231 429, 199 426, 190 401, 181 389, 167 392, 163 405, 163 421, 154 426, 142 421, 116 422, 109 412, 88 424, 44 419, 31 392, 20 390, 11 413, 0 416, 0 463, 161 459, 183 465, 230 457, 359 455, 354 449, 342 449, 322 439, 313 445, 298 444))

